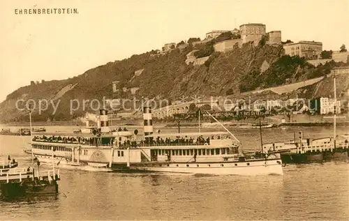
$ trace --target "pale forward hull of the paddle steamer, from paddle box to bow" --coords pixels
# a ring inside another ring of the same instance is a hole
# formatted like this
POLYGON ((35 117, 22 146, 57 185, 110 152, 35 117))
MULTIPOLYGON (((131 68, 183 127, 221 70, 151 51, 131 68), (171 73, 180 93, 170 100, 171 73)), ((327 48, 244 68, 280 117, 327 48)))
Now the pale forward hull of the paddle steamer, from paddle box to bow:
POLYGON ((147 164, 131 164, 113 167, 115 171, 126 172, 166 172, 183 174, 214 174, 214 175, 283 175, 280 159, 258 160, 246 162, 154 162, 147 164))

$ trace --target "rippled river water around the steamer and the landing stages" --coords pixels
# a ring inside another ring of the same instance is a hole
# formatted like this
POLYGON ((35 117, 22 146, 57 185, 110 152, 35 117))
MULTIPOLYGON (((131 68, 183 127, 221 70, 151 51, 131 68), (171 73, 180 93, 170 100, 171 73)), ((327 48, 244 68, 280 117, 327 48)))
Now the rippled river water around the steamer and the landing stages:
MULTIPOLYGON (((221 129, 202 129, 208 130, 221 129)), ((332 135, 331 127, 276 128, 263 130, 262 139, 293 139, 299 130, 304 137, 332 135)), ((231 131, 244 148, 260 148, 258 129, 231 131)), ((339 127, 337 132, 349 131, 339 127)), ((11 155, 20 167, 30 165, 30 155, 23 152, 28 142, 30 137, 0 136, 0 158, 11 155)), ((0 220, 349 220, 348 166, 348 160, 286 165, 283 176, 118 174, 61 168, 60 195, 0 201, 0 220)))

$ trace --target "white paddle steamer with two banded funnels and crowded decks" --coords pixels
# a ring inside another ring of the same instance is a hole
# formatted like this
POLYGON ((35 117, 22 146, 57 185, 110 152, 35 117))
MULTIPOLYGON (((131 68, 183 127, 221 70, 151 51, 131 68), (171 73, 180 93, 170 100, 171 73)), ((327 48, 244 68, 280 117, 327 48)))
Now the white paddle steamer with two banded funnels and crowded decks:
POLYGON ((87 121, 80 133, 34 134, 27 153, 40 162, 53 159, 61 165, 92 165, 118 172, 283 174, 279 153, 242 153, 239 140, 215 118, 226 131, 154 134, 151 107, 143 107, 143 118, 143 135, 112 131, 102 109, 97 128, 90 128, 87 121))

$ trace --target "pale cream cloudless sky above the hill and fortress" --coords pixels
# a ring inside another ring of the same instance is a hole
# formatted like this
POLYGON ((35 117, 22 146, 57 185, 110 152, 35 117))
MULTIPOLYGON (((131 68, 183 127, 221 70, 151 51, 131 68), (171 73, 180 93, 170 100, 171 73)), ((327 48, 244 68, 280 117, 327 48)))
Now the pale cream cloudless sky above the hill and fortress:
POLYGON ((349 0, 0 1, 0 102, 31 80, 67 79, 165 43, 262 23, 282 40, 349 47, 349 0), (15 9, 78 14, 16 15, 15 9))

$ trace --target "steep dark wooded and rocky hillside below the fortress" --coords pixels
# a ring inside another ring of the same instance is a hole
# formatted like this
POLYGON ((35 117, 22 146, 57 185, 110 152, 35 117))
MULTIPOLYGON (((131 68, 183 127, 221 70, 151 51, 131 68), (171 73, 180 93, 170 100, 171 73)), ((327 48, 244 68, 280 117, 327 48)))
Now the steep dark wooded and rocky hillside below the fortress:
MULTIPOLYGON (((209 43, 195 47, 190 44, 188 47, 174 48, 163 54, 151 51, 91 68, 77 77, 21 87, 1 102, 0 119, 3 123, 28 121, 26 113, 19 112, 15 108, 16 100, 21 98, 36 101, 52 99, 54 103, 60 100, 55 114, 52 114, 52 107, 49 107, 41 114, 35 112, 33 121, 47 119, 66 121, 83 116, 85 112, 91 112, 89 108, 84 111, 79 109, 70 115, 70 100, 73 99, 82 101, 102 100, 103 96, 106 98, 144 96, 178 100, 181 96, 194 95, 239 96, 246 91, 321 77, 328 74, 332 66, 337 65, 327 63, 325 66, 315 68, 304 59, 283 56, 281 45, 255 47, 253 43, 246 43, 242 48, 236 47, 225 54, 211 52, 211 46, 209 43), (193 49, 210 54, 209 59, 201 66, 193 66, 192 63, 187 65, 186 55, 193 49), (138 71, 138 75, 135 75, 135 71, 141 69, 144 70, 138 71), (112 91, 114 81, 119 81, 117 93, 112 91), (128 90, 130 88, 139 90, 133 95, 128 90)), ((331 92, 330 82, 324 82, 323 86, 329 89, 327 93, 331 92)), ((316 86, 311 87, 306 95, 311 94, 310 91, 315 90, 316 86)), ((348 88, 348 85, 344 85, 343 88, 348 88)))

